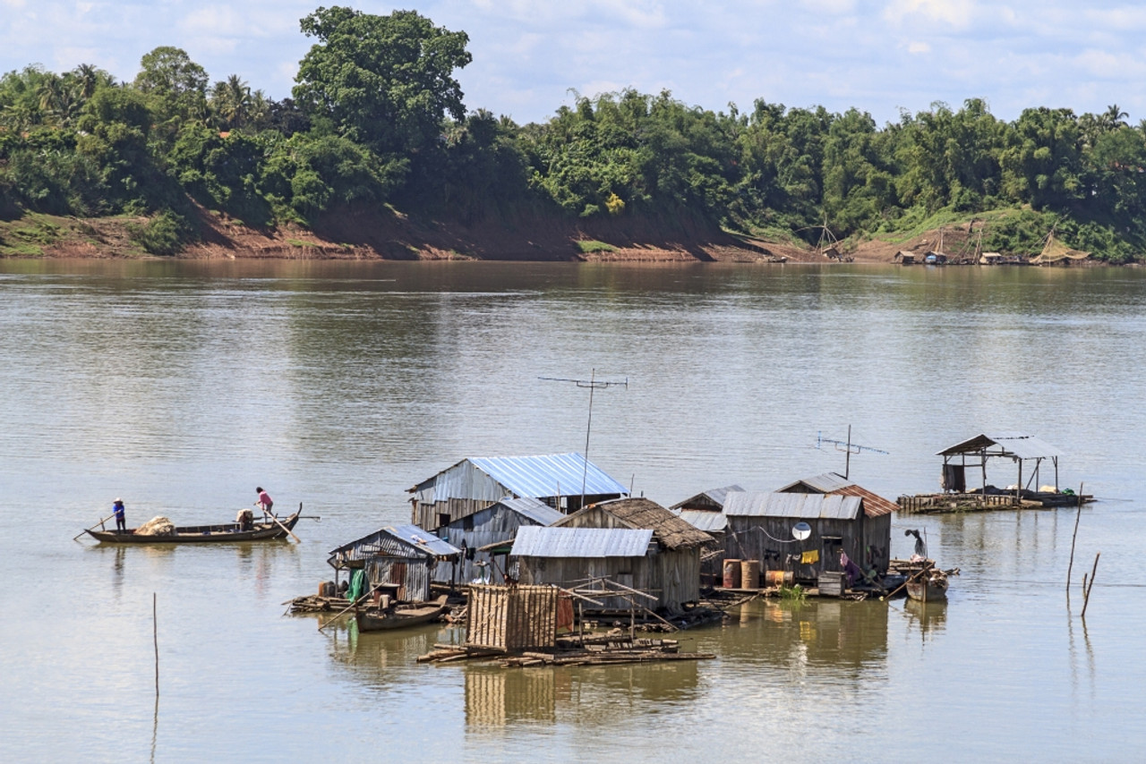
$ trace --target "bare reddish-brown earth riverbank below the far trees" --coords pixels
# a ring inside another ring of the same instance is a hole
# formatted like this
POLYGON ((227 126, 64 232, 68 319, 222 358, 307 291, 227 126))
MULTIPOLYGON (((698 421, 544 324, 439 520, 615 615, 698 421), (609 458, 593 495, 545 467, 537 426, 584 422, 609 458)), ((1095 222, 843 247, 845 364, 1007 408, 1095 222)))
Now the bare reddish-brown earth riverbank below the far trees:
MULTIPOLYGON (((140 259, 148 252, 142 216, 79 219, 28 214, 0 221, 0 257, 140 259)), ((890 263, 896 253, 917 261, 940 246, 953 258, 973 254, 971 227, 924 231, 902 241, 873 238, 841 246, 838 257, 791 242, 766 241, 674 219, 571 221, 520 216, 477 225, 416 220, 390 207, 346 212, 314 228, 252 228, 196 210, 191 242, 175 254, 189 260, 496 260, 523 262, 861 262, 890 263), (945 238, 944 238, 945 237, 945 238)), ((833 255, 837 253, 833 252, 833 255)), ((1092 261, 1088 261, 1092 263, 1092 261)))

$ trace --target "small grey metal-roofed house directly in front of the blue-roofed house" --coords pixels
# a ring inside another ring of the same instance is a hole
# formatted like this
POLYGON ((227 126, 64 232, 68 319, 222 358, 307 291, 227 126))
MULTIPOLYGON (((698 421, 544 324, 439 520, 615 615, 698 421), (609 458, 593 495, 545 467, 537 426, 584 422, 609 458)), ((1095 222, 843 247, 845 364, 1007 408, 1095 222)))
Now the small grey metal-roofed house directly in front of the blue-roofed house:
MULTIPOLYGON (((448 526, 438 528, 434 533, 454 546, 462 550, 463 559, 458 566, 457 581, 473 581, 482 573, 482 566, 477 562, 492 562, 490 552, 479 551, 480 548, 502 542, 513 543, 517 529, 521 526, 548 526, 565 515, 537 498, 503 498, 473 514, 452 521, 448 526)), ((489 573, 494 573, 487 568, 489 573)), ((433 580, 448 583, 452 572, 439 567, 433 580)), ((500 577, 494 577, 500 582, 500 577)))

